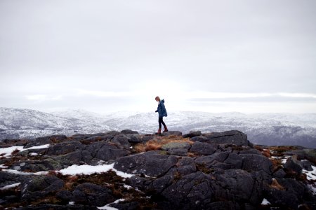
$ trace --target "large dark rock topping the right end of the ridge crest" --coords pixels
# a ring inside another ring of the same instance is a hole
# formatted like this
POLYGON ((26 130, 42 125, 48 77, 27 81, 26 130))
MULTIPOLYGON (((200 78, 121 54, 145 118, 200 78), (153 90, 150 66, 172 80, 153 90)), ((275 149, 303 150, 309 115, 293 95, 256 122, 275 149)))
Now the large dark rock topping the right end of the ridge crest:
POLYGON ((247 135, 237 130, 231 130, 227 132, 213 132, 209 134, 203 134, 204 137, 209 139, 209 143, 212 144, 235 144, 238 146, 251 146, 247 140, 247 135))

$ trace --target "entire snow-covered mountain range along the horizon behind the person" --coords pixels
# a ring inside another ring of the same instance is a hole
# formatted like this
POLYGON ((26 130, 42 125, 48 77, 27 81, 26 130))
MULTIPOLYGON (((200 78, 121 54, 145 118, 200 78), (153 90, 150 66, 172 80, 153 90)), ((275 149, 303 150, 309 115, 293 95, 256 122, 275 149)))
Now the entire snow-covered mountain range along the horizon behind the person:
MULTIPOLYGON (((117 112, 100 115, 82 110, 43 113, 29 109, 0 108, 0 139, 33 138, 51 134, 136 130, 152 133, 157 113, 117 112)), ((168 112, 169 130, 222 132, 240 130, 249 141, 264 145, 300 145, 316 148, 316 114, 168 112)))

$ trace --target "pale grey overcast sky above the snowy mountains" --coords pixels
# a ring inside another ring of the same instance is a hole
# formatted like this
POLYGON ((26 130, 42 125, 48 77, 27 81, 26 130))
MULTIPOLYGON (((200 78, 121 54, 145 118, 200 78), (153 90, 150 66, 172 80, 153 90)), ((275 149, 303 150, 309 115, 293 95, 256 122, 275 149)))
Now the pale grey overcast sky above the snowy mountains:
POLYGON ((0 106, 316 113, 315 81, 315 0, 0 0, 0 106))

